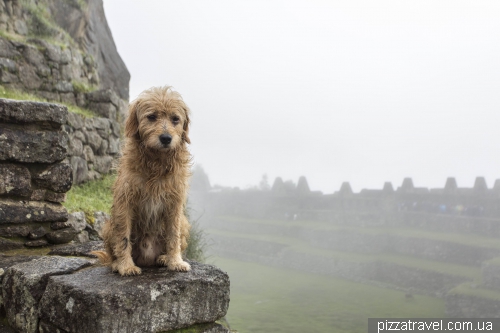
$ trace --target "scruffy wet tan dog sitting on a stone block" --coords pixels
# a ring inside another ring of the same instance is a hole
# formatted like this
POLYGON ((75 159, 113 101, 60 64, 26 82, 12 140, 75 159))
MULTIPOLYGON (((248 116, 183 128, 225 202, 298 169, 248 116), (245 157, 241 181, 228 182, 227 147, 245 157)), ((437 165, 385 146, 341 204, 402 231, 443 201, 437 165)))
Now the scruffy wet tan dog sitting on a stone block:
POLYGON ((121 275, 138 266, 189 271, 182 260, 190 225, 184 205, 190 175, 189 109, 171 87, 142 92, 129 107, 126 141, 113 187, 111 219, 94 252, 121 275))

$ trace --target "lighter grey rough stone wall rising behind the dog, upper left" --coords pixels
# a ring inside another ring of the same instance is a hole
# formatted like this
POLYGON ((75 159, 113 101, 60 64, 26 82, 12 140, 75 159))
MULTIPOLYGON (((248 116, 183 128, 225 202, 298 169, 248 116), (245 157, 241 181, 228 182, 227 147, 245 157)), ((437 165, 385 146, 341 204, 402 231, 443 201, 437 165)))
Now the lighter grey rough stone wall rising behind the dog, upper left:
POLYGON ((69 113, 63 124, 73 184, 109 173, 120 151, 130 74, 116 52, 102 1, 0 0, 0 32, 0 89, 96 114, 69 113), (50 13, 50 22, 37 23, 33 6, 50 13))

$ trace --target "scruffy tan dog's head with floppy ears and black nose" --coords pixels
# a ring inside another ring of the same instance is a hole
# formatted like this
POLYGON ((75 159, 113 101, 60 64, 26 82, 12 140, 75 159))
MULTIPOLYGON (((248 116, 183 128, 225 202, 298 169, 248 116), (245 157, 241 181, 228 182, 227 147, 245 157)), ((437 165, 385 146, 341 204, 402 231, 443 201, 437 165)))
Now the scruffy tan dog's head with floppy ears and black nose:
POLYGON ((189 108, 171 87, 143 91, 129 106, 125 135, 150 149, 168 151, 189 140, 189 108))

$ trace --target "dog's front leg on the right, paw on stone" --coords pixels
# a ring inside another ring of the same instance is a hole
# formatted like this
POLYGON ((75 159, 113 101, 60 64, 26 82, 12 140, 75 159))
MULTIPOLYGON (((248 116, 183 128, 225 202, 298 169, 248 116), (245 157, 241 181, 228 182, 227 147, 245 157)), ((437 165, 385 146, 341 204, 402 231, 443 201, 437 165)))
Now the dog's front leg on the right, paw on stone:
MULTIPOLYGON (((180 205, 182 207, 182 205, 180 205)), ((168 238, 165 242, 166 254, 158 257, 157 263, 161 266, 166 266, 171 271, 186 272, 191 270, 191 265, 182 260, 181 254, 181 226, 186 223, 186 219, 182 209, 175 215, 175 219, 167 224, 168 238)))

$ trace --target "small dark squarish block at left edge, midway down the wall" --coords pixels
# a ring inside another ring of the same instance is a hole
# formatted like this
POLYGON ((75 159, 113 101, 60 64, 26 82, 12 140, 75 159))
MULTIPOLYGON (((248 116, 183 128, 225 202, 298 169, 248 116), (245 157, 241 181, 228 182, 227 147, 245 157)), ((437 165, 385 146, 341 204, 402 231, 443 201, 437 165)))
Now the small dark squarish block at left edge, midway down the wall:
POLYGON ((20 165, 0 164, 0 195, 29 196, 31 176, 29 170, 20 165))

